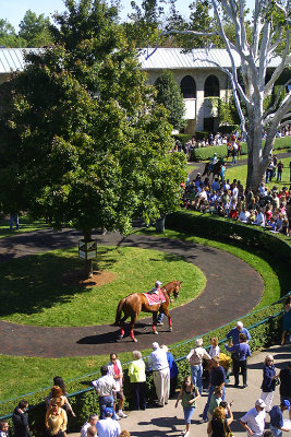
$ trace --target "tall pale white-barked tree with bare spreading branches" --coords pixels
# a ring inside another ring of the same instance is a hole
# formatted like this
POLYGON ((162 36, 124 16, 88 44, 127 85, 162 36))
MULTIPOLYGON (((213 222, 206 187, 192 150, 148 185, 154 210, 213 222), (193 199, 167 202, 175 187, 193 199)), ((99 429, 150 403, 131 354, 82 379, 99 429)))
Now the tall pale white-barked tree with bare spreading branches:
MULTIPOLYGON (((290 68, 290 33, 291 33, 291 5, 288 0, 255 0, 252 19, 252 35, 247 31, 245 20, 245 1, 211 0, 216 27, 211 32, 184 31, 196 36, 219 36, 231 60, 231 69, 221 68, 230 79, 233 98, 241 119, 241 129, 247 142, 247 180, 248 187, 257 190, 266 172, 269 154, 274 146, 276 133, 283 126, 291 122, 291 93, 286 94, 291 79, 277 91, 272 105, 264 105, 272 94, 272 90, 283 73, 290 68), (223 20, 228 17, 235 28, 233 43, 225 32, 223 20), (280 55, 277 67, 270 72, 269 63, 276 54, 280 55), (241 61, 241 76, 234 62, 234 55, 241 61), (282 98, 281 98, 282 97, 282 98), (243 111, 245 107, 245 113, 243 111), (263 133, 266 131, 266 141, 263 133)), ((163 35, 181 33, 179 29, 165 32, 163 35)), ((206 59, 201 59, 205 61, 206 59)), ((209 62, 209 60, 207 59, 209 62)))

